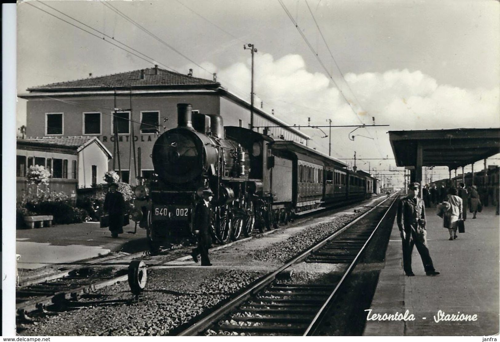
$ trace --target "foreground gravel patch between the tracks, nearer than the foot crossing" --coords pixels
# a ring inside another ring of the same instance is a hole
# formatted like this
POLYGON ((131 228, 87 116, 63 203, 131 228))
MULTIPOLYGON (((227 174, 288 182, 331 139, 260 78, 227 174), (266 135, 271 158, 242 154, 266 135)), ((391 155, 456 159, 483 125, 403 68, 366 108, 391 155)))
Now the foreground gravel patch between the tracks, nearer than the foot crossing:
MULTIPOLYGON (((192 272, 189 272, 192 274, 192 272)), ((34 324, 20 335, 166 335, 207 308, 255 280, 262 273, 199 269, 193 278, 185 270, 150 270, 145 300, 133 303, 127 283, 100 289, 98 297, 82 299, 87 306, 60 312, 34 324), (184 273, 184 274, 182 274, 184 273)), ((21 326, 22 328, 23 326, 21 326)))

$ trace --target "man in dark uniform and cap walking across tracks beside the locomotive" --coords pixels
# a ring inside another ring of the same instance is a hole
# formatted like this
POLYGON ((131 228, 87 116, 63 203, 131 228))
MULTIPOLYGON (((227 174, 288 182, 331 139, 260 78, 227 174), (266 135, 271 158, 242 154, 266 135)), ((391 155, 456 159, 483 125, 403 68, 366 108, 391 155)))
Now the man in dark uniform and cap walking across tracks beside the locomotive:
POLYGON ((194 208, 194 228, 198 235, 198 246, 193 248, 191 256, 194 262, 198 262, 198 255, 201 255, 201 266, 211 266, 208 258, 208 248, 212 244, 210 236, 210 218, 213 192, 210 189, 204 189, 200 200, 194 208))

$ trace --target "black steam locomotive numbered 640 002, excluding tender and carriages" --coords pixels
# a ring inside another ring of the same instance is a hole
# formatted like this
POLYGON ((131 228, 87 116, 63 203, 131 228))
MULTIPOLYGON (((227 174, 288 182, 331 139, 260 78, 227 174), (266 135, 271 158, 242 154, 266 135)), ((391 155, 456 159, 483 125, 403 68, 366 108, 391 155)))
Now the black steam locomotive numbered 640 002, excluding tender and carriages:
MULTIPOLYGON (((243 146, 247 143, 224 138, 219 115, 192 113, 190 104, 179 103, 177 122, 152 149, 151 239, 178 242, 191 237, 194 207, 205 188, 214 193, 213 237, 224 243, 240 234, 249 236, 255 222, 253 201, 262 190, 261 179, 253 177, 261 162, 243 146)), ((261 141, 254 142, 251 148, 259 149, 261 141)))

